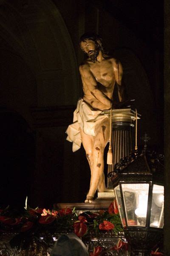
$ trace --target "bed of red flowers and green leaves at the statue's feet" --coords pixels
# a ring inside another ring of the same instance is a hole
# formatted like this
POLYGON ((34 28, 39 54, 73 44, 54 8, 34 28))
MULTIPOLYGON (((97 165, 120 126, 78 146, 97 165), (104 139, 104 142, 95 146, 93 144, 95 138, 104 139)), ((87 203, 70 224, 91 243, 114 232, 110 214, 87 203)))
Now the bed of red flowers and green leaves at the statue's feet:
MULTIPOLYGON (((122 224, 119 216, 118 206, 114 200, 108 210, 99 210, 96 213, 83 212, 77 214, 75 208, 46 210, 41 208, 33 209, 25 207, 22 213, 10 210, 10 207, 0 210, 0 231, 17 233, 11 239, 11 247, 20 246, 23 241, 34 234, 48 233, 68 233, 74 232, 79 237, 90 236, 91 233, 97 236, 99 232, 112 230, 117 234, 122 231, 122 224)), ((94 249, 91 255, 99 255, 101 248, 94 249), (97 254, 98 253, 98 254, 97 254)))

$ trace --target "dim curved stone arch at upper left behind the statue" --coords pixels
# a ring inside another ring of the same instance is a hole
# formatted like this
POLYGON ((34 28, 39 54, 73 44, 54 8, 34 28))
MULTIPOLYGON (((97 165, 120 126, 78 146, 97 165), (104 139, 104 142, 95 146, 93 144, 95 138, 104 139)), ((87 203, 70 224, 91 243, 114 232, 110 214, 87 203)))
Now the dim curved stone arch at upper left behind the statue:
POLYGON ((6 0, 1 4, 0 14, 0 37, 20 55, 36 80, 37 102, 33 105, 76 104, 77 60, 71 37, 54 3, 6 0))

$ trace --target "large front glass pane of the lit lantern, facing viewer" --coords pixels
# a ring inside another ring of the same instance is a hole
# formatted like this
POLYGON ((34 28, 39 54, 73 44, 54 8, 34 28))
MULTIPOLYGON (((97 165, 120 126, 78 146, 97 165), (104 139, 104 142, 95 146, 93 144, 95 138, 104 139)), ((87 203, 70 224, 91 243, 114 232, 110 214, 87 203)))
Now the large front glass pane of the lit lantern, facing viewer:
POLYGON ((146 226, 149 184, 122 184, 128 226, 146 226))

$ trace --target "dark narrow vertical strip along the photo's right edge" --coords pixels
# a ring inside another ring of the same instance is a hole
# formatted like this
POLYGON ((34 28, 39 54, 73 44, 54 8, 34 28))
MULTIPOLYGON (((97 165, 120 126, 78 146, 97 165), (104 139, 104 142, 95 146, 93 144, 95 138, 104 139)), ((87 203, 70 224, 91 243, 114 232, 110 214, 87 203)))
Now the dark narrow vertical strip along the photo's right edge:
POLYGON ((164 1, 164 254, 170 254, 170 1, 164 1))

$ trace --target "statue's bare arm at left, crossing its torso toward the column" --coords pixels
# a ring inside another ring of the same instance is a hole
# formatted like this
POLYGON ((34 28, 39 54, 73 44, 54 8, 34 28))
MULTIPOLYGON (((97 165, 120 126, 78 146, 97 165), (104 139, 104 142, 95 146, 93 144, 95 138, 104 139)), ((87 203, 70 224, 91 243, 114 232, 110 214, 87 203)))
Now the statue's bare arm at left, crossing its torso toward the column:
POLYGON ((79 66, 79 72, 82 77, 82 82, 85 83, 91 95, 94 96, 98 101, 102 102, 110 108, 112 106, 112 100, 108 98, 102 91, 98 89, 97 81, 94 75, 90 71, 88 64, 82 64, 79 66))

